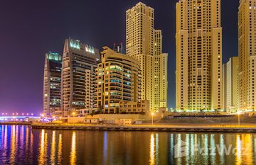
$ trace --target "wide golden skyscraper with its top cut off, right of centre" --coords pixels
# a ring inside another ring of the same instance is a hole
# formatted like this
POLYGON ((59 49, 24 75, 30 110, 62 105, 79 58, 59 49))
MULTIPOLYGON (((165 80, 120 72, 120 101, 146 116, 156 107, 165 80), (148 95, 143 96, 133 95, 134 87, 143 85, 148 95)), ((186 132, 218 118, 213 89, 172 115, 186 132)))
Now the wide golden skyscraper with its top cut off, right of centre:
POLYGON ((220 0, 176 4, 176 109, 222 109, 220 0))

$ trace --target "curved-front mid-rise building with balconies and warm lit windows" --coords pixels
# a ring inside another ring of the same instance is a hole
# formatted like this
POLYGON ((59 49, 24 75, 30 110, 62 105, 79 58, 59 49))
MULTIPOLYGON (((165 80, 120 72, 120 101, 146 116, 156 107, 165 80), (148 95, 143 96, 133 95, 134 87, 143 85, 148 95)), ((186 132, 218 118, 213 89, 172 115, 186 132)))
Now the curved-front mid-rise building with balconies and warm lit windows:
POLYGON ((120 101, 141 101, 141 71, 133 57, 103 47, 96 79, 97 107, 102 113, 119 113, 120 101))

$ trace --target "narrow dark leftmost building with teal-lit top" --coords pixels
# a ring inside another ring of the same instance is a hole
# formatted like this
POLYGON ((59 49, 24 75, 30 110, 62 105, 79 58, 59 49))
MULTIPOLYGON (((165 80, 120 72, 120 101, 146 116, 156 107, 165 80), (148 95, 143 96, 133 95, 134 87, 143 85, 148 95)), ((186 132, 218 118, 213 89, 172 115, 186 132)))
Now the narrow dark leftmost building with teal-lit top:
POLYGON ((60 83, 62 57, 58 53, 46 53, 43 76, 43 113, 53 115, 60 110, 60 83))

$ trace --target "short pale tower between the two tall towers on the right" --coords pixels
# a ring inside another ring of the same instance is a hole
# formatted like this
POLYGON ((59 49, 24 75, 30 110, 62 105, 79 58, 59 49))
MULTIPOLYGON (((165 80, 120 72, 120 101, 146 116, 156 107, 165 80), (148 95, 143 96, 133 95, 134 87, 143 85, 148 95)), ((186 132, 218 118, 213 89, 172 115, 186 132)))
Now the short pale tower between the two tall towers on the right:
POLYGON ((231 57, 223 64, 223 110, 228 113, 238 110, 238 69, 238 57, 231 57))

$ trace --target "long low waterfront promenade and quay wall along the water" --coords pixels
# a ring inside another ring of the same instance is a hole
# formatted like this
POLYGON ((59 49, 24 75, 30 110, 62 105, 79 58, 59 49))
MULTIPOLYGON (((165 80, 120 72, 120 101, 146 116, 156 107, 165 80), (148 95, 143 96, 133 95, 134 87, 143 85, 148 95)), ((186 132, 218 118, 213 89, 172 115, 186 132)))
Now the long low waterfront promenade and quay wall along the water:
POLYGON ((89 124, 43 124, 33 123, 33 129, 50 130, 114 130, 114 131, 166 131, 166 132, 256 132, 256 125, 89 125, 89 124))

